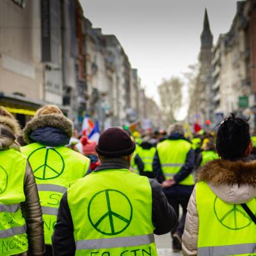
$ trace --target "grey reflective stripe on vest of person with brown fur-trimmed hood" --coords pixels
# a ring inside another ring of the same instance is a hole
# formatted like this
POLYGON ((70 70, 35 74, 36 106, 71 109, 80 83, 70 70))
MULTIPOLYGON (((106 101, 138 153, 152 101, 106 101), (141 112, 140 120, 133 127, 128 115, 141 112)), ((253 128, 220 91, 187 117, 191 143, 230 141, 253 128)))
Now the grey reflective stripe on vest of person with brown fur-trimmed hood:
POLYGON ((243 255, 256 253, 256 244, 232 244, 224 246, 210 246, 198 248, 198 255, 212 256, 212 255, 243 255))

